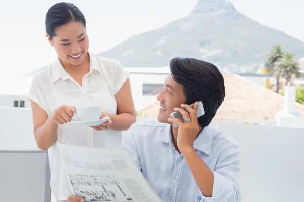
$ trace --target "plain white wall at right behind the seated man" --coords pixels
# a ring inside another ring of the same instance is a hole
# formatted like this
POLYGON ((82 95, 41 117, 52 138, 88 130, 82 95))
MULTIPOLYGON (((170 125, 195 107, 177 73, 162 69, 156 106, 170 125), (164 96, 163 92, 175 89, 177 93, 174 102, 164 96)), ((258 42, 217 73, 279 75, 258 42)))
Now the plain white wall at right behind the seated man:
POLYGON ((219 124, 242 149, 242 201, 303 201, 304 129, 219 124))

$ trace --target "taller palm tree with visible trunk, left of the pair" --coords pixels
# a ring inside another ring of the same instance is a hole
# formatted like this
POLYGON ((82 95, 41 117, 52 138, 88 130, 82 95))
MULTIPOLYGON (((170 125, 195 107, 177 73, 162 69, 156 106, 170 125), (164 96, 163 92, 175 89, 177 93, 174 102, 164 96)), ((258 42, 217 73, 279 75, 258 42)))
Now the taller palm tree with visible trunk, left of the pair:
POLYGON ((273 73, 277 80, 277 89, 276 92, 279 92, 280 89, 280 74, 277 74, 274 72, 276 63, 283 58, 284 52, 283 52, 283 46, 282 45, 273 45, 273 51, 268 56, 268 61, 265 64, 265 68, 267 68, 267 71, 270 73, 273 73))

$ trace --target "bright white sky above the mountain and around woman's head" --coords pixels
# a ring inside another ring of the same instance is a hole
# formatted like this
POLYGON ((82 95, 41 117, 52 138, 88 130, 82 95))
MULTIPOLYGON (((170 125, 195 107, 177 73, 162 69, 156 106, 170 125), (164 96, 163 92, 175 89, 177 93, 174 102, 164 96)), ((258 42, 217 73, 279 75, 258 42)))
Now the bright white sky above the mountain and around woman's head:
MULTIPOLYGON (((10 0, 0 3, 0 78, 51 64, 56 57, 45 33, 45 15, 57 2, 10 0)), ((84 13, 90 51, 99 53, 134 34, 186 16, 197 0, 69 1, 84 13)), ((304 41, 303 0, 231 0, 247 17, 304 41)), ((304 56, 303 56, 304 57, 304 56)), ((1 88, 1 86, 0 86, 1 88)))

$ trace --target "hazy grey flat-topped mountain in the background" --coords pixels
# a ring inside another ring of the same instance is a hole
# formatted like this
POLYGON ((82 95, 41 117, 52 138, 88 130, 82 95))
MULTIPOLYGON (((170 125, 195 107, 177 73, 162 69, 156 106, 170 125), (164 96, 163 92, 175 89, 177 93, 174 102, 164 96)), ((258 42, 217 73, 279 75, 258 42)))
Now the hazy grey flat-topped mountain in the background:
POLYGON ((177 56, 219 67, 250 66, 264 63, 274 44, 283 45, 297 58, 304 57, 304 42, 249 19, 230 2, 199 0, 186 17, 131 36, 99 55, 118 59, 126 67, 167 66, 177 56))

